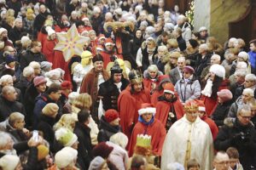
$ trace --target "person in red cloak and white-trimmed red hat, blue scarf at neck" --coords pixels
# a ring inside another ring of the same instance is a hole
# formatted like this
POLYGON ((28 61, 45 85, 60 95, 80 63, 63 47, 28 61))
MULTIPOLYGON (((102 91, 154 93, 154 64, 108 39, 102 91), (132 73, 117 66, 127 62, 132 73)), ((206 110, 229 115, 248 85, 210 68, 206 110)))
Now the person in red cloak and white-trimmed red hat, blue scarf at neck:
POLYGON ((134 147, 137 143, 138 134, 148 134, 151 136, 151 148, 152 152, 156 156, 160 156, 162 147, 166 138, 166 128, 158 120, 154 119, 155 108, 152 104, 144 103, 140 110, 138 110, 138 122, 133 128, 130 144, 129 144, 129 156, 132 156, 134 147))

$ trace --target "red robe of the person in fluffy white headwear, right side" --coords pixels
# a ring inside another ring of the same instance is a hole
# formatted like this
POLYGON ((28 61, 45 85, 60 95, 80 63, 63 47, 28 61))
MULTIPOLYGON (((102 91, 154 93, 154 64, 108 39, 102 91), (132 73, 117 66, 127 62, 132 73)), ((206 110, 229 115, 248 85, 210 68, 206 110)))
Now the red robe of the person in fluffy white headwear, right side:
MULTIPOLYGON (((229 83, 229 80, 224 80, 218 87, 218 92, 222 89, 228 89, 229 83)), ((203 95, 202 99, 204 101, 204 104, 206 105, 207 116, 211 116, 213 109, 216 107, 216 105, 218 105, 218 98, 213 99, 212 97, 207 97, 203 95)))

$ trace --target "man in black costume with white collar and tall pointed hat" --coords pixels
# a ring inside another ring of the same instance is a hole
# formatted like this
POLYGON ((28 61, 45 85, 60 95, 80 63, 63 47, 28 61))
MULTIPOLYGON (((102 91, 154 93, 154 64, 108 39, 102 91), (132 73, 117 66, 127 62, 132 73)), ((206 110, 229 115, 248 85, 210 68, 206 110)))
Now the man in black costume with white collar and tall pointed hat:
POLYGON ((120 68, 117 60, 114 61, 113 67, 110 69, 111 77, 108 81, 100 85, 98 97, 102 99, 103 109, 117 110, 117 100, 121 91, 123 91, 129 84, 129 81, 122 75, 123 69, 120 68))

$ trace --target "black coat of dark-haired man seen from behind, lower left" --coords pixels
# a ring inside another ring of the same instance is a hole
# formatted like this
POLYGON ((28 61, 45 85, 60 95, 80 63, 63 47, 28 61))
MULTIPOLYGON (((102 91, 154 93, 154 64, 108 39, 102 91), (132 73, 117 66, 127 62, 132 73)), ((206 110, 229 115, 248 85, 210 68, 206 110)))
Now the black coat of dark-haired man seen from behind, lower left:
POLYGON ((90 166, 90 161, 93 159, 90 127, 86 127, 84 124, 77 122, 74 133, 79 139, 78 163, 81 166, 81 170, 87 170, 90 166))

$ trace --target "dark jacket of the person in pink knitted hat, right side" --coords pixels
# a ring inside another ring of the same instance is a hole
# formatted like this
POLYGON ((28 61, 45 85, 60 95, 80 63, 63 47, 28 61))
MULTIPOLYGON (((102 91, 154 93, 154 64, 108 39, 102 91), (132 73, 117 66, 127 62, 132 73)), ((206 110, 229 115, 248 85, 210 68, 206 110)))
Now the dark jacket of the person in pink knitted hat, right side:
POLYGON ((228 116, 230 105, 231 102, 224 102, 222 105, 218 104, 216 109, 212 112, 212 121, 214 121, 218 127, 224 125, 224 118, 228 116))

